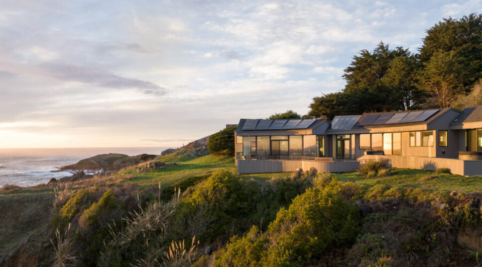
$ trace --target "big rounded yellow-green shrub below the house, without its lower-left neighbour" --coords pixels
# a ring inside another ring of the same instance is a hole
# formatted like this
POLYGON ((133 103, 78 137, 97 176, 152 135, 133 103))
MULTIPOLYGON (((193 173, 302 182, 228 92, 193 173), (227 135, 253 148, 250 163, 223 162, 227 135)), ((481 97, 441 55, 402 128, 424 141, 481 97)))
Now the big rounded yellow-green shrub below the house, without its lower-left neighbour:
POLYGON ((348 246, 355 241, 360 211, 331 188, 337 185, 308 188, 288 209, 280 209, 268 227, 272 245, 262 259, 263 266, 304 266, 331 246, 348 246))

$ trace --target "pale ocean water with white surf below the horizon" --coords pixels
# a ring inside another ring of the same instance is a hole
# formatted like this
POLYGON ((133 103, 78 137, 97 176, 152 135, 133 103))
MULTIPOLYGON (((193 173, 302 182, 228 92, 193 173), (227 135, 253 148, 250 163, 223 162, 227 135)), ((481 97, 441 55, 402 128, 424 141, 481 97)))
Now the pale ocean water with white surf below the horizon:
POLYGON ((167 147, 0 149, 0 187, 5 183, 32 186, 46 183, 51 178, 71 176, 72 173, 69 172, 52 173, 52 171, 100 154, 160 155, 165 149, 167 147))

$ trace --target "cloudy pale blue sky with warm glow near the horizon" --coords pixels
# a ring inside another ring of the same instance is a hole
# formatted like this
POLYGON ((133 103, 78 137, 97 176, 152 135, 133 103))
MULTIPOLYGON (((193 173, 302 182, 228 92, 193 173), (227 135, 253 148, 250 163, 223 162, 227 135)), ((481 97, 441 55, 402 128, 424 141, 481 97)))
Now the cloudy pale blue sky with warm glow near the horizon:
POLYGON ((343 89, 482 0, 0 0, 0 148, 178 147, 343 89))

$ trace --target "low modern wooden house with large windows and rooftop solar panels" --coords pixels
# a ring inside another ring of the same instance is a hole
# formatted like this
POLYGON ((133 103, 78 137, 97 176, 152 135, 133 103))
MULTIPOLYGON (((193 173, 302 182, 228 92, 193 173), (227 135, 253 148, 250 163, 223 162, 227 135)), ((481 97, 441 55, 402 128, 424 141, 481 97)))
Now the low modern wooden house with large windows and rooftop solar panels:
POLYGON ((370 112, 325 119, 241 119, 235 131, 240 174, 351 172, 368 161, 391 167, 482 175, 482 106, 370 112))

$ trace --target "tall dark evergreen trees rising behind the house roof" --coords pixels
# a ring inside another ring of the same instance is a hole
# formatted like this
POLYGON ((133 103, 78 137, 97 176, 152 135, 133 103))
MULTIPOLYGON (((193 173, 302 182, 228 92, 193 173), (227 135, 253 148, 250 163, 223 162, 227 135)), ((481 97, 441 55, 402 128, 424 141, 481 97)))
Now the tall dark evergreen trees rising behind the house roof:
POLYGON ((426 31, 420 54, 380 42, 353 57, 339 92, 313 97, 310 118, 449 107, 482 78, 482 14, 447 18, 426 31))

